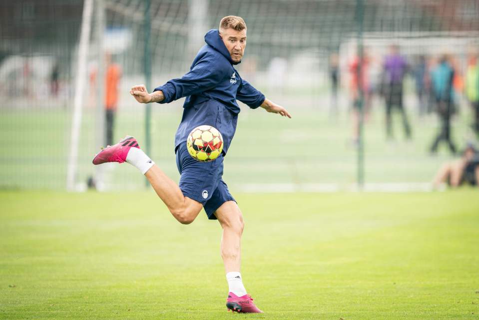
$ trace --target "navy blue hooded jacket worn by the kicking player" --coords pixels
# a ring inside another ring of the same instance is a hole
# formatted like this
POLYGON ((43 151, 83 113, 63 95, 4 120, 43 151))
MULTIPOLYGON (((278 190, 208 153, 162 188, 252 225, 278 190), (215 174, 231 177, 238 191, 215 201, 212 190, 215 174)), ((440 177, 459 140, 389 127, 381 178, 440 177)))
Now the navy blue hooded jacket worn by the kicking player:
POLYGON ((205 34, 206 44, 198 51, 190 71, 182 78, 171 79, 158 86, 169 103, 186 96, 183 117, 176 131, 175 150, 186 141, 190 131, 203 124, 212 125, 223 135, 223 152, 226 154, 233 139, 240 107, 236 99, 251 108, 260 106, 265 96, 233 67, 228 49, 217 29, 205 34))

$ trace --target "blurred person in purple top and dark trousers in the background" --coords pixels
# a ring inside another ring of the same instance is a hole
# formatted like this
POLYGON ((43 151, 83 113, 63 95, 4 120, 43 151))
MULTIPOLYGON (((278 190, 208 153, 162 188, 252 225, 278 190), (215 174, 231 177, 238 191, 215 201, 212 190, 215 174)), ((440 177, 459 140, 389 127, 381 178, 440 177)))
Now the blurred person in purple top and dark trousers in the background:
POLYGON ((411 138, 411 126, 403 104, 403 82, 408 70, 406 59, 400 54, 398 45, 390 46, 390 53, 383 63, 383 94, 386 100, 386 133, 389 139, 393 138, 392 112, 397 107, 403 117, 403 126, 406 138, 411 138))

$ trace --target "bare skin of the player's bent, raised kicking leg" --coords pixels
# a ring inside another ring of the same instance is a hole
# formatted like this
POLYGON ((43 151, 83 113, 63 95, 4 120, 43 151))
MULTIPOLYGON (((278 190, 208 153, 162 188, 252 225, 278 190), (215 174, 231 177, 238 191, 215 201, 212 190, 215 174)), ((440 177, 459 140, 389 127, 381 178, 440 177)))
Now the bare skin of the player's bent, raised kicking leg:
POLYGON ((179 222, 183 224, 193 222, 203 207, 200 202, 184 196, 179 186, 156 164, 146 171, 145 176, 179 222))

